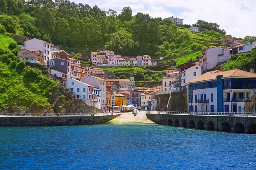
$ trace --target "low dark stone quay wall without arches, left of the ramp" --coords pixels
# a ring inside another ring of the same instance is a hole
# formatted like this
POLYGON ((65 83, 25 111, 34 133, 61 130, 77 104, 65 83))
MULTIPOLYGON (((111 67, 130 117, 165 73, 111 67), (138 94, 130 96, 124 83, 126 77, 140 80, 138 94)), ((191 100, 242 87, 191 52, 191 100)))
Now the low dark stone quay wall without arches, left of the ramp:
POLYGON ((0 126, 70 126, 108 122, 121 114, 104 116, 0 116, 0 126))

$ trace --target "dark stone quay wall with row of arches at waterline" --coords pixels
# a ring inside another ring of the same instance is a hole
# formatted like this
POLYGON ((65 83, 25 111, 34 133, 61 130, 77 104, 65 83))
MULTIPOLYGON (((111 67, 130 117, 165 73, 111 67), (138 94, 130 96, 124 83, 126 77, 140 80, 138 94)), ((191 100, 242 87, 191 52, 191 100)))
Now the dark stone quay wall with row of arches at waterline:
POLYGON ((254 116, 195 116, 152 113, 146 115, 148 119, 160 125, 256 134, 256 117, 254 116))

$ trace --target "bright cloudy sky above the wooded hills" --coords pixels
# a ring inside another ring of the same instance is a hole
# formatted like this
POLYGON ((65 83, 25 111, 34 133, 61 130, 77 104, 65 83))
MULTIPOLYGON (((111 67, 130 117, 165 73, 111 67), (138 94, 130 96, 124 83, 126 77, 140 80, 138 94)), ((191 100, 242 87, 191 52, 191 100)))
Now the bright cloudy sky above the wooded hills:
POLYGON ((205 20, 217 23, 221 29, 233 37, 256 36, 256 1, 255 0, 71 0, 75 3, 97 5, 108 11, 120 13, 129 6, 133 15, 137 12, 151 17, 178 17, 183 24, 205 20))

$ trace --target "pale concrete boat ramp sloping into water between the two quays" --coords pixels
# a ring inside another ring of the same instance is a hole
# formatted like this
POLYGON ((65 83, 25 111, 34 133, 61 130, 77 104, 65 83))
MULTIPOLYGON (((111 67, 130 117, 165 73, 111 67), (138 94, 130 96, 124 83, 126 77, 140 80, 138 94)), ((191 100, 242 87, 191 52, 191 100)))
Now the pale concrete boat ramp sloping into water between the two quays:
POLYGON ((107 122, 109 124, 155 124, 149 120, 145 114, 145 111, 137 113, 134 116, 132 113, 123 113, 122 115, 116 117, 115 119, 107 122))

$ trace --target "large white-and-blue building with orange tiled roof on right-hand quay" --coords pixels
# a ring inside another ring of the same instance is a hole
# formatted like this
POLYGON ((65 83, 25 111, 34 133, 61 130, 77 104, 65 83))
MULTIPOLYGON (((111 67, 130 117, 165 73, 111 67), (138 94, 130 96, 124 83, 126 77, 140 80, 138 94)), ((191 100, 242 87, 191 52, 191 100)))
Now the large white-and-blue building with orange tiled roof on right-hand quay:
POLYGON ((256 74, 253 71, 209 71, 187 84, 190 112, 253 111, 253 88, 256 88, 256 74))

